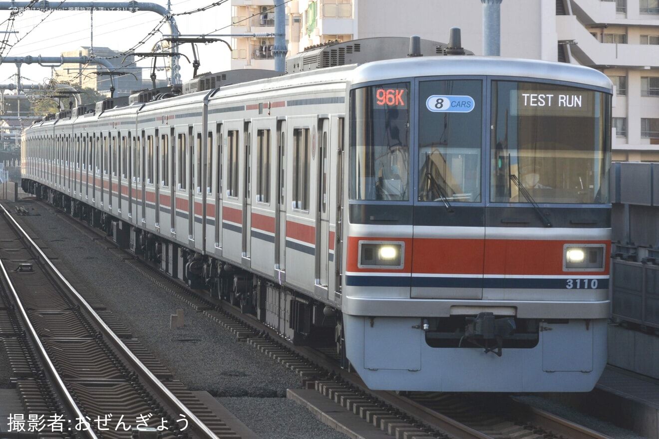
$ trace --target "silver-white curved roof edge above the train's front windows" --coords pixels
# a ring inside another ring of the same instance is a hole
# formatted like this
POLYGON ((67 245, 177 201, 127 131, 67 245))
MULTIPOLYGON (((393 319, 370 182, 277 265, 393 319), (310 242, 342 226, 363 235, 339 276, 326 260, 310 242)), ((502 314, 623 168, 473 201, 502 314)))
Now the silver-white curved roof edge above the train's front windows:
POLYGON ((611 80, 594 68, 532 59, 502 57, 415 57, 374 61, 355 68, 351 83, 409 76, 518 76, 574 82, 612 91, 611 80))

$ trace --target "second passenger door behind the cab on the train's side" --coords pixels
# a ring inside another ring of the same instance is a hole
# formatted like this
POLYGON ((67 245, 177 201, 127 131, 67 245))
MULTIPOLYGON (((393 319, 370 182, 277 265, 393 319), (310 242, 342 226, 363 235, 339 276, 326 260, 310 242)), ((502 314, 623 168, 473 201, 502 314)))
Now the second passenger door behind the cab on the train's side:
POLYGON ((275 206, 275 270, 286 269, 286 120, 277 122, 277 201, 275 206))

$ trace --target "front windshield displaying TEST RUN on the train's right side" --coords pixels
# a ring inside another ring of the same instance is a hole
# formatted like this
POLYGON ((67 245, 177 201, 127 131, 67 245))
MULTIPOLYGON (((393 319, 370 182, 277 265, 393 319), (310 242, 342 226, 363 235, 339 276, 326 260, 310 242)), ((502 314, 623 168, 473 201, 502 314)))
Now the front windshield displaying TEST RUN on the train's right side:
POLYGON ((492 82, 490 200, 608 203, 608 99, 554 84, 492 82))

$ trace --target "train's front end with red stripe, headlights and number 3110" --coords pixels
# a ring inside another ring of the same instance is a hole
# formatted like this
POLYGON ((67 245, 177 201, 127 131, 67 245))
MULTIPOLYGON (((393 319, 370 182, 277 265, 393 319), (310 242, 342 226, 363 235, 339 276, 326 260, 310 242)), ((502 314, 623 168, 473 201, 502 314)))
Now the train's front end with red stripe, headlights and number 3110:
POLYGON ((607 355, 611 85, 426 57, 349 90, 346 355, 382 390, 585 392, 607 355))

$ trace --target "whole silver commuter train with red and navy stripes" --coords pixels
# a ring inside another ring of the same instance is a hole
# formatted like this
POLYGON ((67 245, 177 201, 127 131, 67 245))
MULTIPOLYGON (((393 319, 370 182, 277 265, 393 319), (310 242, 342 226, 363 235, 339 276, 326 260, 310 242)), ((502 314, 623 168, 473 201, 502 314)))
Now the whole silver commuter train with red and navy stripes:
POLYGON ((312 47, 22 131, 22 188, 374 390, 585 392, 610 80, 418 38, 312 47))

